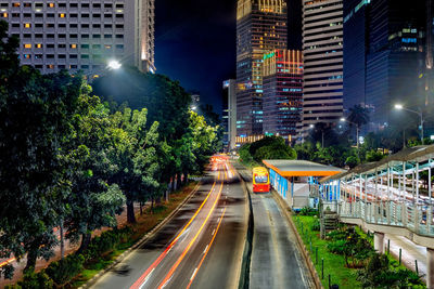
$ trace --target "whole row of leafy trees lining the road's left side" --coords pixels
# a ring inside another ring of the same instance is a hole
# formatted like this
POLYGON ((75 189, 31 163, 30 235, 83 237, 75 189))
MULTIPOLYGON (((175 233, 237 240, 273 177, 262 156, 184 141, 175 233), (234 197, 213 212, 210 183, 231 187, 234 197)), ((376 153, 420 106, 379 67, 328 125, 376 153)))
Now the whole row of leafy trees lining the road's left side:
MULTIPOLYGON (((146 80, 148 109, 103 102, 81 76, 20 66, 18 41, 0 22, 0 258, 49 260, 58 229, 79 250, 115 214, 154 203, 218 149, 217 127, 190 111, 190 96, 164 76, 146 80), (175 182, 178 180, 178 182, 175 182)), ((140 81, 138 79, 138 81, 140 81)), ((167 197, 167 196, 166 196, 167 197)), ((11 265, 0 268, 13 275, 11 265)))

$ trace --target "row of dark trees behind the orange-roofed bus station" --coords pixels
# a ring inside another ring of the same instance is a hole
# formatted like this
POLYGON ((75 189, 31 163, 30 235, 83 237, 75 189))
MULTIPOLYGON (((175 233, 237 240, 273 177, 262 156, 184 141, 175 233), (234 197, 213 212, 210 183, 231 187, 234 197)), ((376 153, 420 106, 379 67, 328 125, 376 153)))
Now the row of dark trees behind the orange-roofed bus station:
MULTIPOLYGON (((295 145, 298 158, 317 161, 337 167, 354 168, 362 162, 381 160, 391 152, 398 152, 404 147, 421 145, 418 131, 411 126, 390 126, 381 131, 365 135, 359 147, 353 146, 357 140, 352 140, 353 129, 362 130, 369 122, 368 109, 360 105, 349 109, 349 126, 342 123, 341 130, 330 123, 317 123, 310 131, 306 142, 295 145)), ((425 144, 433 143, 425 139, 425 144)))

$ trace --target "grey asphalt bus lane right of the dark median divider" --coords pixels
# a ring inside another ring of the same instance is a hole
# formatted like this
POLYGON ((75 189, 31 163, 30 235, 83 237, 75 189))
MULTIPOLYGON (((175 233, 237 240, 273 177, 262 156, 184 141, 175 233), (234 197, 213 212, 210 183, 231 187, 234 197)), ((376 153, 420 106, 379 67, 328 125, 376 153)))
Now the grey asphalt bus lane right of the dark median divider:
MULTIPOLYGON (((237 169, 252 192, 250 172, 237 169)), ((294 232, 271 194, 251 197, 254 232, 250 288, 315 288, 294 232)))

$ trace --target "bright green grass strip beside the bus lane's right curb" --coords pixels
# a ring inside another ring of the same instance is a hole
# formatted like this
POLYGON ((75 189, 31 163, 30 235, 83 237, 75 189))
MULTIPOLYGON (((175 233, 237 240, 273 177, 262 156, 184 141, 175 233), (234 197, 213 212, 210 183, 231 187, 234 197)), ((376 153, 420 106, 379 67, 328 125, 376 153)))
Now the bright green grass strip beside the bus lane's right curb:
POLYGON ((302 236, 306 249, 309 251, 310 259, 315 264, 322 286, 324 288, 329 288, 330 275, 332 285, 336 284, 340 288, 343 289, 360 288, 360 284, 356 280, 357 271, 345 267, 345 258, 343 255, 329 252, 329 250, 327 249, 327 244, 329 244, 330 241, 322 240, 320 238, 319 232, 310 229, 316 219, 314 216, 293 215, 293 220, 297 227, 298 234, 302 236), (312 248, 311 250, 310 241, 312 248), (316 258, 316 250, 318 250, 318 262, 316 258), (324 260, 323 278, 321 259, 324 260))

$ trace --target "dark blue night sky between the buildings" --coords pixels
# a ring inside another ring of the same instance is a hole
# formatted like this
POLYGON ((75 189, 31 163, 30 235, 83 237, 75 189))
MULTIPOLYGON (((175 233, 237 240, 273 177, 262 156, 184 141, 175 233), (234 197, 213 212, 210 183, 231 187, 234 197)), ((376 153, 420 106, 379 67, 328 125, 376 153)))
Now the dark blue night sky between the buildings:
POLYGON ((235 0, 156 0, 158 74, 201 93, 221 114, 222 81, 235 77, 235 0))

